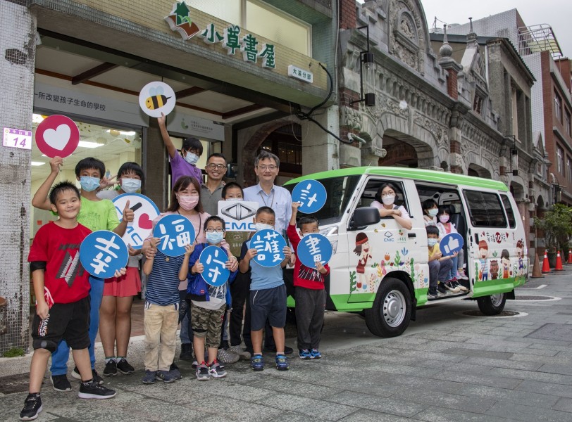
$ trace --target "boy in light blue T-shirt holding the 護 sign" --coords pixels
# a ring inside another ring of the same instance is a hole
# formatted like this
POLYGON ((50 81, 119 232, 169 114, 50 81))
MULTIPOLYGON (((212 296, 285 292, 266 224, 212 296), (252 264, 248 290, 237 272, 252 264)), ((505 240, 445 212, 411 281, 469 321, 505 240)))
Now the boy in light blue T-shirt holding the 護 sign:
MULTIPOLYGON (((276 215, 271 207, 260 207, 256 211, 254 224, 256 231, 274 229, 276 215)), ((284 247, 284 260, 276 267, 262 267, 256 260, 252 260, 258 251, 250 247, 251 241, 242 244, 239 269, 242 274, 251 269, 250 283, 250 309, 251 309, 251 338, 254 354, 250 359, 250 366, 254 371, 264 369, 262 359, 262 330, 266 319, 270 322, 276 343, 276 369, 286 371, 289 368, 288 359, 284 354, 286 325, 286 286, 282 277, 282 268, 290 260, 292 252, 284 247)))

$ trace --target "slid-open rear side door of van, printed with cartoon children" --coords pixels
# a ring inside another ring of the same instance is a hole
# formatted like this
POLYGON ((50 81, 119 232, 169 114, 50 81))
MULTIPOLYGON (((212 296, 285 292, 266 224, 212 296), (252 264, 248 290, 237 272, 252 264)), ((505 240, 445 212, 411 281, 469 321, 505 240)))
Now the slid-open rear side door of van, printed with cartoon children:
POLYGON ((511 227, 498 192, 463 188, 468 210, 468 274, 473 297, 514 289, 518 258, 511 227), (516 267, 515 267, 516 265, 516 267))

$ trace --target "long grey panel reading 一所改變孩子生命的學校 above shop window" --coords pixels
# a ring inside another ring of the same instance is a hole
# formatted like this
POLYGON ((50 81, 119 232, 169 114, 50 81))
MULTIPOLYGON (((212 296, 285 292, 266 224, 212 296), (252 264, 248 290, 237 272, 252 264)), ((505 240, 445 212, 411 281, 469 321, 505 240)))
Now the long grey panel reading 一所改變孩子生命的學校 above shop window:
POLYGON ((87 94, 79 90, 72 91, 38 81, 34 87, 34 107, 64 115, 81 115, 111 122, 149 126, 149 117, 143 114, 139 103, 87 94))

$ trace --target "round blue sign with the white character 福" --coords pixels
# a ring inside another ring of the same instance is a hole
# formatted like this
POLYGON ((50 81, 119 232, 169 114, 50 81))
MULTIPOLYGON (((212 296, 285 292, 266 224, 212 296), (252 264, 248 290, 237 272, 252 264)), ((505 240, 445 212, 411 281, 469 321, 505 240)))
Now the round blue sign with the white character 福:
POLYGON ((161 239, 158 250, 168 257, 178 257, 185 254, 185 245, 194 242, 194 227, 187 217, 169 214, 157 222, 153 237, 161 239))

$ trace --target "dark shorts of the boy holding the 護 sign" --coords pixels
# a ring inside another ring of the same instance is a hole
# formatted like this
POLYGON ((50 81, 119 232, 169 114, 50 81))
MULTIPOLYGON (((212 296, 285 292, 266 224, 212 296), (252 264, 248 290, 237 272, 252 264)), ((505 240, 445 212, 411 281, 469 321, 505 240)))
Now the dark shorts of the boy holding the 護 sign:
POLYGON ((286 325, 286 286, 250 290, 250 329, 259 331, 268 323, 275 328, 286 325))

